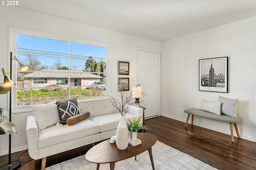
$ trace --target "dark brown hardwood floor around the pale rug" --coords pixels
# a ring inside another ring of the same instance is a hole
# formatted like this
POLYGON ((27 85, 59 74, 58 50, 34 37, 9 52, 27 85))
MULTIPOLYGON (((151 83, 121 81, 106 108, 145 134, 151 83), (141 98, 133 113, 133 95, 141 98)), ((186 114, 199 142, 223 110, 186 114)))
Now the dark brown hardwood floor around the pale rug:
MULTIPOLYGON (((155 134, 160 142, 219 170, 256 170, 256 142, 235 137, 235 142, 232 143, 228 134, 190 124, 185 128, 184 122, 162 116, 147 119, 145 124, 152 128, 147 132, 155 134)), ((83 155, 91 147, 90 144, 49 156, 46 167, 83 155)), ((12 154, 12 160, 17 160, 20 156, 22 163, 18 170, 39 170, 41 160, 31 160, 28 152, 24 152, 25 150, 12 154)), ((0 156, 0 166, 6 162, 8 155, 0 156)))

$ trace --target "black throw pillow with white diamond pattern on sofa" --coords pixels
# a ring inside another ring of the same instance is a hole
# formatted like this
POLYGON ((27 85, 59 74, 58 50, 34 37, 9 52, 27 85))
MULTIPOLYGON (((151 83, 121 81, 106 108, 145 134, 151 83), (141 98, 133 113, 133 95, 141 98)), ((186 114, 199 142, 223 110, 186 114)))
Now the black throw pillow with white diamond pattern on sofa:
POLYGON ((74 115, 79 114, 78 103, 77 103, 76 98, 69 99, 69 100, 66 100, 66 101, 57 101, 56 105, 58 107, 59 116, 60 116, 60 120, 61 120, 62 125, 67 124, 66 120, 69 117, 72 117, 74 115))

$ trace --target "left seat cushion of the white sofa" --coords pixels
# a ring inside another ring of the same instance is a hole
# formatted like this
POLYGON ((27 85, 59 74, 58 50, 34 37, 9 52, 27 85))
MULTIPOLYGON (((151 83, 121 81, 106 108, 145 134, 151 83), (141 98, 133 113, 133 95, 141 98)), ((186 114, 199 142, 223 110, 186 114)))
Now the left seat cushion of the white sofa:
POLYGON ((38 133, 38 148, 53 146, 100 132, 100 125, 85 119, 72 126, 52 126, 38 133))

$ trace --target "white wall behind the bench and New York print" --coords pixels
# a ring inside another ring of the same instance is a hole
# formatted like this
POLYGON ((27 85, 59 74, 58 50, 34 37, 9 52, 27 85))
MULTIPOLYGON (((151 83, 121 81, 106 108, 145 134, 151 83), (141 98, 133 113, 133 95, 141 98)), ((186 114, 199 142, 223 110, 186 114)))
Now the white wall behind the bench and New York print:
MULTIPOLYGON (((255 57, 256 17, 162 42, 162 115, 186 122, 184 110, 199 109, 202 99, 239 99, 240 137, 256 141, 255 57), (228 93, 199 91, 198 60, 226 56, 228 93)), ((194 124, 230 134, 228 123, 195 117, 194 124)))

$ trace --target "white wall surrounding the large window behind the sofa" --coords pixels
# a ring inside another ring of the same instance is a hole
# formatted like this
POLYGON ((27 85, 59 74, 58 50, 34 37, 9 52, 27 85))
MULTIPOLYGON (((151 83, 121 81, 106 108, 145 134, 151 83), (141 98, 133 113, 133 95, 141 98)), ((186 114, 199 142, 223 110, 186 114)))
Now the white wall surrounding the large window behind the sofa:
MULTIPOLYGON (((9 55, 8 48, 8 26, 24 28, 58 34, 62 36, 70 36, 84 40, 90 40, 100 43, 109 43, 109 64, 108 75, 110 76, 108 94, 119 96, 117 92, 117 61, 130 61, 130 88, 137 85, 137 55, 136 47, 160 51, 160 42, 146 40, 111 30, 106 30, 78 22, 72 22, 30 10, 24 10, 14 6, 0 6, 0 68, 9 70, 9 55)), ((3 75, 0 74, 0 82, 3 82, 3 75)), ((8 95, 0 95, 0 108, 8 108, 8 95)), ((12 152, 25 150, 26 144, 26 118, 32 115, 32 112, 15 113, 12 117, 12 122, 16 125, 15 130, 18 132, 12 135, 12 152)), ((8 121, 8 118, 4 118, 8 121)), ((8 135, 0 135, 0 156, 8 154, 8 135)))

